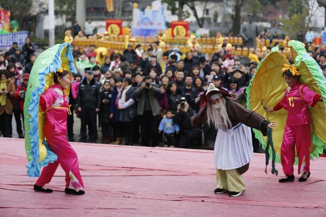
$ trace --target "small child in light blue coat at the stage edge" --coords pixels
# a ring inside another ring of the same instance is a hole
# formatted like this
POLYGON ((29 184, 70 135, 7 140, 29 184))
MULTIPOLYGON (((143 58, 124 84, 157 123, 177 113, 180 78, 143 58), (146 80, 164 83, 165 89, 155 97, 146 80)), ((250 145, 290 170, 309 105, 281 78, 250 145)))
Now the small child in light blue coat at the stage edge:
POLYGON ((165 116, 158 126, 158 133, 164 132, 167 140, 167 145, 174 147, 174 133, 178 134, 180 131, 179 125, 172 122, 172 111, 167 111, 165 116))

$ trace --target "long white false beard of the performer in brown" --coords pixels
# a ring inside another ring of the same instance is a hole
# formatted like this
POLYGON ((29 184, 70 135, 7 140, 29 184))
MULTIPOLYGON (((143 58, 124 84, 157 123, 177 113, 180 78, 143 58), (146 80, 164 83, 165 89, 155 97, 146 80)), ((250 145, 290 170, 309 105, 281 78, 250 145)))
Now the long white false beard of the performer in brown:
POLYGON ((207 108, 207 123, 212 123, 218 129, 230 129, 232 127, 225 107, 225 100, 209 105, 207 108))

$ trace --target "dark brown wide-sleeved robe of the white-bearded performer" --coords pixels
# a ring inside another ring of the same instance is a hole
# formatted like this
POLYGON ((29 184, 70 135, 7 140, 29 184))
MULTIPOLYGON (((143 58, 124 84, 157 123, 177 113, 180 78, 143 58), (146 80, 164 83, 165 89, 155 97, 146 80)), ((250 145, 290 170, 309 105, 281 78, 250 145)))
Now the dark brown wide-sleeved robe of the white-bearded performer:
MULTIPOLYGON (((270 123, 269 121, 265 120, 265 118, 258 113, 244 108, 238 101, 230 97, 223 97, 223 100, 226 101, 225 107, 232 124, 231 127, 234 127, 241 122, 250 128, 260 130, 262 134, 266 136, 267 125, 270 123)), ((191 117, 192 127, 207 122, 207 106, 210 106, 209 103, 201 108, 196 115, 191 117)), ((248 170, 248 168, 249 163, 237 168, 237 170, 239 171, 239 174, 242 175, 248 170)))

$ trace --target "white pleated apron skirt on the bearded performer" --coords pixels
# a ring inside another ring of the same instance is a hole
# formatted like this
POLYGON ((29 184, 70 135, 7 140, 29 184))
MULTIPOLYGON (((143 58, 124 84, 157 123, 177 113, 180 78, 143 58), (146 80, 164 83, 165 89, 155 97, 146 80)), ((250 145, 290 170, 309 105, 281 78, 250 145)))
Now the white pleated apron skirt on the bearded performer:
POLYGON ((214 165, 220 170, 232 170, 249 163, 253 156, 250 127, 239 123, 218 129, 214 147, 214 165))

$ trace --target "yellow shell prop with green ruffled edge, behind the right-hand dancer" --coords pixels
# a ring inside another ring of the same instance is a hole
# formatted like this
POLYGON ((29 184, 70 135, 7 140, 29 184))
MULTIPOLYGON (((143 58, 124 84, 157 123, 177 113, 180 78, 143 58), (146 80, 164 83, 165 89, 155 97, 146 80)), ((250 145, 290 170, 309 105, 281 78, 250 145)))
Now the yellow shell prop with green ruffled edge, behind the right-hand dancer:
MULTIPOLYGON (((302 43, 292 40, 289 43, 294 65, 300 71, 300 81, 311 90, 322 96, 323 102, 318 102, 315 107, 309 107, 311 123, 311 146, 310 158, 319 157, 326 148, 326 87, 325 77, 317 62, 306 52, 302 43)), ((276 152, 276 162, 280 163, 281 144, 286 125, 288 112, 281 109, 276 112, 267 113, 263 106, 273 108, 284 96, 287 85, 282 77, 284 64, 290 65, 289 61, 278 52, 278 46, 273 47, 271 52, 258 64, 252 77, 247 93, 247 108, 264 116, 269 121, 275 121, 277 127, 273 132, 273 142, 276 152)), ((255 137, 266 147, 266 138, 259 130, 253 129, 255 137)), ((269 150, 272 154, 272 150, 269 150)), ((295 164, 298 163, 296 153, 295 164)))

